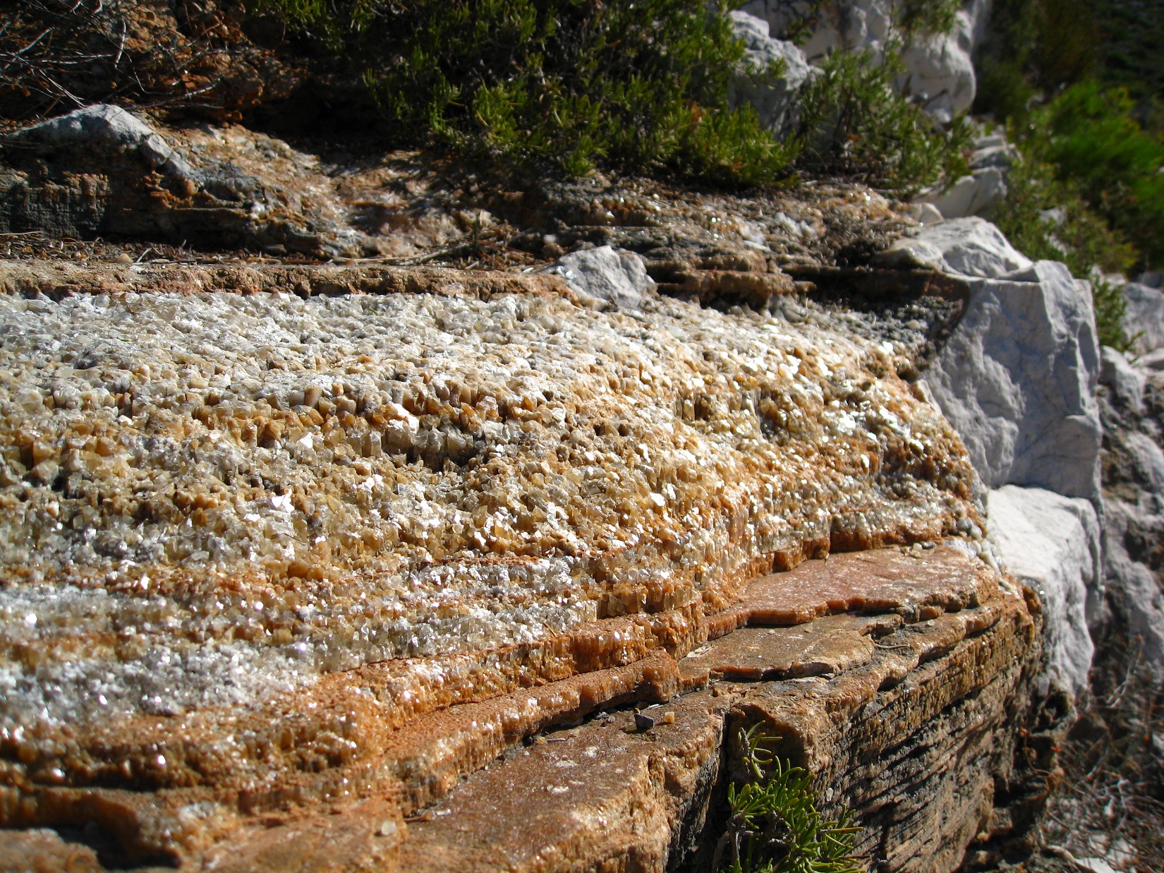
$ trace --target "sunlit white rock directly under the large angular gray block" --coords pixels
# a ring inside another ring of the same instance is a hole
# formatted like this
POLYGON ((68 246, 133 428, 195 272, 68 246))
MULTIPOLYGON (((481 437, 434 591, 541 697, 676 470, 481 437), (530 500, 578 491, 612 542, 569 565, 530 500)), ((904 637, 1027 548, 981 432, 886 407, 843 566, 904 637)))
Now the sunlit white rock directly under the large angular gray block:
POLYGON ((1094 653, 1088 615, 1103 595, 1094 506, 1041 488, 1005 485, 989 492, 987 511, 999 556, 1043 604, 1051 680, 1081 695, 1094 653))

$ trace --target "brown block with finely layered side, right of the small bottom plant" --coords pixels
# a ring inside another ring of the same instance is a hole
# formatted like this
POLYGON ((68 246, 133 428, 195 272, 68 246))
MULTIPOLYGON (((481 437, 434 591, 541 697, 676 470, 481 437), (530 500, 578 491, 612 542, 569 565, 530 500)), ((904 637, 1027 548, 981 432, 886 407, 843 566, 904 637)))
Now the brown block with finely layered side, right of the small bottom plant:
POLYGON ((729 736, 762 722, 780 737, 778 753, 815 774, 830 808, 853 810, 858 850, 878 870, 957 870, 992 818, 995 786, 1015 776, 1016 736, 1003 728, 1022 717, 1035 672, 1027 605, 1006 597, 991 611, 977 631, 957 626, 965 613, 903 627, 831 680, 758 687, 736 704, 729 736))

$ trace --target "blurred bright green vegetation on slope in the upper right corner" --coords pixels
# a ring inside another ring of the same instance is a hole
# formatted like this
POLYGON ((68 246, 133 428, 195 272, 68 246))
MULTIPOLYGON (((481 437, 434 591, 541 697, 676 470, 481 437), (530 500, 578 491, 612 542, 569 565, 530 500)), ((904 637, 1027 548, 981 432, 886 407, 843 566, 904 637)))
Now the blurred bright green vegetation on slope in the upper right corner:
MULTIPOLYGON (((977 58, 974 108, 1007 123, 1024 158, 996 221, 1079 277, 1164 264, 1164 62, 1149 26, 1164 33, 1164 5, 999 0, 977 58)), ((1121 293, 1093 289, 1101 341, 1127 348, 1121 293)))

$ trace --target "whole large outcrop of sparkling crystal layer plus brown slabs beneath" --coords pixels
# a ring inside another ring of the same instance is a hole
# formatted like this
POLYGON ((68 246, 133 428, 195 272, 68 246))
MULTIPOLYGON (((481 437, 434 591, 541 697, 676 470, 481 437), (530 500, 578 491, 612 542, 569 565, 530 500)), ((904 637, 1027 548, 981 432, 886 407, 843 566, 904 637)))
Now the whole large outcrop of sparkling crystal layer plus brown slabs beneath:
POLYGON ((12 857, 662 870, 714 843, 757 721, 883 870, 1023 838, 1037 601, 978 558, 965 449, 859 319, 5 272, 12 857))

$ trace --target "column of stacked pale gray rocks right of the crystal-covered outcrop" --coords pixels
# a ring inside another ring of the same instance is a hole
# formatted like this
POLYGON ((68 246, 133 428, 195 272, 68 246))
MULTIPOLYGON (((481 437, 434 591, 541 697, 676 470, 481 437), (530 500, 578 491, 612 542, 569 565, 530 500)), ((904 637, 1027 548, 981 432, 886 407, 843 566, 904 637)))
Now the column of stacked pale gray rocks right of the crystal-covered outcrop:
POLYGON ((879 260, 967 277, 960 320, 924 381, 994 489, 999 560, 1043 602, 1045 681, 1085 697, 1091 633, 1107 609, 1094 392, 1102 365, 1113 390, 1142 407, 1131 396, 1142 398, 1143 377, 1114 350, 1101 363, 1086 283, 1063 264, 1031 263, 980 218, 925 226, 879 260))

